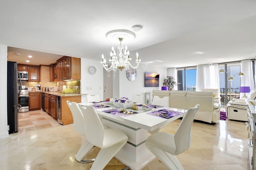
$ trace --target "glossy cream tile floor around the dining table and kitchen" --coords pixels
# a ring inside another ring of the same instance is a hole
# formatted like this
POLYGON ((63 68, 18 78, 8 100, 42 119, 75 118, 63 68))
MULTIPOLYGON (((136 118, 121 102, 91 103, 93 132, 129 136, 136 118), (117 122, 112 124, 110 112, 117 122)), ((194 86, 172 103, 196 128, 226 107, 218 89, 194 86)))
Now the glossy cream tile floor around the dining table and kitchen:
MULTIPOLYGON (((0 169, 3 170, 89 170, 90 164, 80 164, 74 155, 84 137, 73 125, 59 125, 46 113, 38 120, 38 111, 23 115, 26 122, 18 133, 0 139, 0 169), (50 119, 51 118, 51 119, 50 119), (40 123, 41 121, 41 123, 40 123), (50 125, 51 126, 50 126, 50 125)), ((161 131, 175 133, 181 119, 173 121, 161 131)), ((219 121, 215 125, 194 122, 191 147, 177 156, 185 170, 249 170, 247 128, 244 122, 219 121)), ((86 158, 95 157, 94 147, 86 158)), ((104 170, 121 170, 125 165, 113 158, 104 170)), ((156 158, 142 170, 167 170, 156 158)))

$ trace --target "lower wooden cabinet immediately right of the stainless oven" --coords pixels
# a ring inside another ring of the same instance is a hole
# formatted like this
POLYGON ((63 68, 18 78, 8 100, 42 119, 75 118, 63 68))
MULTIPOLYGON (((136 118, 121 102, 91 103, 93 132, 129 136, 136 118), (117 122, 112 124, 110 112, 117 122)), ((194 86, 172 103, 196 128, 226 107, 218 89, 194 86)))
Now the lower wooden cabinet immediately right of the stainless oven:
POLYGON ((41 92, 30 92, 28 94, 29 111, 41 109, 41 92))

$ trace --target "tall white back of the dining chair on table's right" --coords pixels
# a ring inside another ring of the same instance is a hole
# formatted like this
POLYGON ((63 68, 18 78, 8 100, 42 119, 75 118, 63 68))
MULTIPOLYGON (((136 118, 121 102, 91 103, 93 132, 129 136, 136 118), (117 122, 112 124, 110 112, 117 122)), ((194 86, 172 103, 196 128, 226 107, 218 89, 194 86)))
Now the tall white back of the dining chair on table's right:
POLYGON ((180 122, 180 125, 174 135, 176 145, 175 155, 184 152, 190 147, 192 138, 192 124, 199 106, 200 105, 197 104, 196 106, 189 108, 180 122))

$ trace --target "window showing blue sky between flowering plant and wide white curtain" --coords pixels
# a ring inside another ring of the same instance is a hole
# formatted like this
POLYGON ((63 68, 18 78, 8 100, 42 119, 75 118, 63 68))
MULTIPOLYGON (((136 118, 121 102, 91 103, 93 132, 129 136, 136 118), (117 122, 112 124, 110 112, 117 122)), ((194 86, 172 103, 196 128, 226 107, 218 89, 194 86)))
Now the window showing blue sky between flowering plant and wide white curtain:
POLYGON ((196 91, 196 67, 177 69, 178 90, 196 91))

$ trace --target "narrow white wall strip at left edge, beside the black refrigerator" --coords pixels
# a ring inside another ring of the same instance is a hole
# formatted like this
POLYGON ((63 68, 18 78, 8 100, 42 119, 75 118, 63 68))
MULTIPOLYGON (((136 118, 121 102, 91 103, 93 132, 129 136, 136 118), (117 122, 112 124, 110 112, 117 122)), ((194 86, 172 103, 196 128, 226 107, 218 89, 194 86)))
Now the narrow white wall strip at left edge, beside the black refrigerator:
POLYGON ((0 45, 0 79, 2 83, 0 83, 0 139, 8 137, 7 131, 7 46, 0 45))

